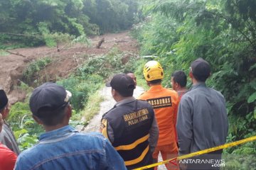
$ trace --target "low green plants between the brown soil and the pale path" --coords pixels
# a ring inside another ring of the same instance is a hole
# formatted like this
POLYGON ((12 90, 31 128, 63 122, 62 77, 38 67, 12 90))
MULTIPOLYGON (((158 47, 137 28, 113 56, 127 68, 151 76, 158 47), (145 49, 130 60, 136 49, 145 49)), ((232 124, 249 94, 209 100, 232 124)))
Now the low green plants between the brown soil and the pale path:
POLYGON ((73 94, 71 103, 75 111, 84 108, 89 96, 100 89, 105 79, 112 74, 124 72, 129 65, 132 65, 130 63, 135 62, 132 57, 130 62, 122 65, 123 55, 122 52, 113 48, 107 55, 89 58, 76 70, 75 74, 57 82, 73 94))

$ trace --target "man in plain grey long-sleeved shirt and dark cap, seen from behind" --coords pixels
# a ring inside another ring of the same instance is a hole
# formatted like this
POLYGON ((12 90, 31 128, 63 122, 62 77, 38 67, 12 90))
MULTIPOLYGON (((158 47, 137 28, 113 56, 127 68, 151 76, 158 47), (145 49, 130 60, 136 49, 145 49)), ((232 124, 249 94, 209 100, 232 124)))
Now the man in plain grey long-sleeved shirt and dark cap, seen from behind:
MULTIPOLYGON (((191 63, 189 77, 193 86, 183 95, 178 106, 177 132, 179 154, 189 154, 225 144, 228 135, 228 116, 225 98, 205 84, 210 65, 202 58, 191 63)), ((192 159, 204 160, 187 164, 185 169, 219 169, 212 163, 221 159, 221 150, 192 159), (207 162, 206 163, 206 159, 207 162), (213 159, 209 161, 209 159, 213 159)), ((184 169, 184 166, 181 167, 184 169)))

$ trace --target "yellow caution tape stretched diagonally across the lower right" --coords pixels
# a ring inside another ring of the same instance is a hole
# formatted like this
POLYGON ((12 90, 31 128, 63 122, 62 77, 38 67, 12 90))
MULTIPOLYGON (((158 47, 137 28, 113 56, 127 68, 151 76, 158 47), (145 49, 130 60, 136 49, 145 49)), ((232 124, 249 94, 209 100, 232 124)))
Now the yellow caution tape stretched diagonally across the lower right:
POLYGON ((170 162, 176 162, 176 160, 187 159, 187 158, 195 157, 195 156, 198 156, 198 155, 201 155, 201 154, 207 154, 209 152, 214 152, 216 150, 225 149, 227 147, 234 147, 236 145, 240 145, 240 144, 243 144, 243 143, 246 143, 246 142, 252 142, 252 141, 255 141, 255 140, 256 140, 256 136, 248 137, 244 140, 238 140, 236 142, 231 142, 231 143, 228 143, 228 144, 225 144, 225 145, 220 145, 218 147, 211 147, 209 149, 204 149, 204 150, 201 150, 201 151, 198 151, 198 152, 193 152, 191 154, 184 154, 180 157, 174 157, 172 159, 166 159, 165 161, 157 162, 155 164, 150 164, 150 165, 146 165, 146 166, 142 166, 142 167, 134 169, 134 170, 149 169, 149 168, 152 168, 154 166, 159 166, 161 164, 168 164, 170 162))

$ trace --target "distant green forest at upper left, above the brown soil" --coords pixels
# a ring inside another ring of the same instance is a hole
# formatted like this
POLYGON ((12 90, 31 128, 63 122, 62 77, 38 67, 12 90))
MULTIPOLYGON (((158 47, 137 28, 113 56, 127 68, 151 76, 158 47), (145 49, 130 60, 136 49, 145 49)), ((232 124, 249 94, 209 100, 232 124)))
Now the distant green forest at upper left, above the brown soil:
POLYGON ((0 48, 55 46, 60 38, 124 30, 140 18, 137 0, 9 0, 0 11, 0 48))

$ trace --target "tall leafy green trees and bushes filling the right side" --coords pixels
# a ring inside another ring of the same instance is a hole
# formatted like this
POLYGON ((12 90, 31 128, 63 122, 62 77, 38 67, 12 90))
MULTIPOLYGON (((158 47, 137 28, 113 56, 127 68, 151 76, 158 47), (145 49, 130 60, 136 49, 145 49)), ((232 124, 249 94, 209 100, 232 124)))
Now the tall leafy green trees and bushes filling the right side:
MULTIPOLYGON (((255 7, 251 0, 146 1, 147 19, 133 30, 141 55, 157 56, 163 65, 165 86, 170 86, 171 72, 188 73, 196 58, 210 63, 207 84, 227 102, 228 142, 256 135, 255 7)), ((256 142, 250 142, 225 149, 225 154, 256 154, 255 148, 256 142)), ((238 169, 250 169, 242 167, 238 169)))

